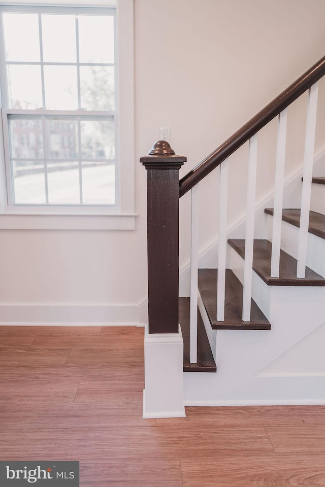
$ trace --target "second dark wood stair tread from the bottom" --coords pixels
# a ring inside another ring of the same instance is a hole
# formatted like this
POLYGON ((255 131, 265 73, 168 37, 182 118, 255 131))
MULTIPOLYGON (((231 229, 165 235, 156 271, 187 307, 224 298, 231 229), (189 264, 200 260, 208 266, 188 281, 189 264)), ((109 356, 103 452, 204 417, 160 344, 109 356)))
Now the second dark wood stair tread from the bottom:
POLYGON ((212 328, 215 330, 270 330, 269 321, 253 300, 251 300, 250 321, 242 321, 243 286, 231 269, 225 271, 225 319, 221 322, 216 320, 217 275, 217 269, 199 269, 199 291, 212 328))

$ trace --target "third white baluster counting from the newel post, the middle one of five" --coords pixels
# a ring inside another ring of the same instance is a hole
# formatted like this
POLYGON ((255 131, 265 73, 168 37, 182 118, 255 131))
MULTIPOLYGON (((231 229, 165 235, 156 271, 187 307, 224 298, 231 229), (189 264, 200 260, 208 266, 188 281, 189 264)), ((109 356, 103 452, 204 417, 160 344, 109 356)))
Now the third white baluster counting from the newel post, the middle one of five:
POLYGON ((249 140, 249 164, 247 185, 247 211, 244 262, 244 293, 243 293, 243 321, 250 320, 250 305, 252 295, 253 247, 255 224, 255 192, 257 168, 257 134, 249 140))

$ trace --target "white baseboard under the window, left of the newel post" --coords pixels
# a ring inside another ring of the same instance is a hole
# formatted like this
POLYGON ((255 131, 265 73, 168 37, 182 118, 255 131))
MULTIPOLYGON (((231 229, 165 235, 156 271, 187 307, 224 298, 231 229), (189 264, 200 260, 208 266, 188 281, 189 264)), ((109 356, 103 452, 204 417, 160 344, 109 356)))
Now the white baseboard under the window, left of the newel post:
POLYGON ((143 304, 0 304, 0 326, 143 326, 142 306, 143 304))

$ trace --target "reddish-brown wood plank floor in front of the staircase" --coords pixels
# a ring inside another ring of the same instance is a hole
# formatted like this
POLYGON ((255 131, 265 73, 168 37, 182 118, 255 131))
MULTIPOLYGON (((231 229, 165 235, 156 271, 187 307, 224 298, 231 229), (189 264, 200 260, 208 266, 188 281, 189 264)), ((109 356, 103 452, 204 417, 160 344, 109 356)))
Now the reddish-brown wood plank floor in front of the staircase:
POLYGON ((143 328, 0 327, 0 459, 77 460, 89 487, 325 485, 325 406, 142 420, 143 328))

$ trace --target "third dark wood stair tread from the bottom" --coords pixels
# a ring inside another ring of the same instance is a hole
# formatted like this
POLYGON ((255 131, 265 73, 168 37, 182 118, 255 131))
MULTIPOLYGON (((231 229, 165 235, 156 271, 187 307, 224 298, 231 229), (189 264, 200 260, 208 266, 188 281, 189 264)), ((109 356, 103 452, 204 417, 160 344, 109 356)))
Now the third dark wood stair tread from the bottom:
MULTIPOLYGON (((229 245, 244 259, 245 240, 229 239, 229 245)), ((297 277, 297 260, 280 251, 280 277, 271 277, 272 243, 268 240, 254 240, 253 270, 269 286, 325 286, 325 279, 306 267, 306 277, 297 277)))

